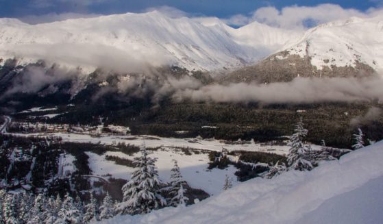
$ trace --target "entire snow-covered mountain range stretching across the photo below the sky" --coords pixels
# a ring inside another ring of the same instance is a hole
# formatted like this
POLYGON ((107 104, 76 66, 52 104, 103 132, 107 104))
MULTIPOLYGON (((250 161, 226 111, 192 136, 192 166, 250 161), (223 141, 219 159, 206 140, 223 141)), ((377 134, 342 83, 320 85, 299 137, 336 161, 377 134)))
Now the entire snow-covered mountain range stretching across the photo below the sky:
MULTIPOLYGON (((218 18, 169 18, 157 11, 38 25, 1 18, 0 58, 16 57, 20 64, 45 60, 86 72, 97 67, 138 71, 137 64, 222 72, 258 63, 276 71, 293 68, 294 75, 303 76, 332 73, 336 67, 371 73, 383 69, 382 30, 383 16, 349 18, 306 32, 258 22, 234 29, 218 18)), ((254 75, 230 79, 246 81, 254 75)))

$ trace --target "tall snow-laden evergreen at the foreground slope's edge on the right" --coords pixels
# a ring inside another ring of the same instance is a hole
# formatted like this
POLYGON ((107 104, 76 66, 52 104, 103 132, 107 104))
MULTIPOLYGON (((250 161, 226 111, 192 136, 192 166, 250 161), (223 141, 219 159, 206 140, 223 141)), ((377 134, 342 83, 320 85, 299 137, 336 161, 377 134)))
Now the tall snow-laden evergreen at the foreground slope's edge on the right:
POLYGON ((291 148, 288 151, 287 163, 291 169, 299 171, 310 171, 312 169, 312 164, 307 156, 310 147, 304 145, 303 142, 307 132, 302 119, 300 119, 297 125, 295 125, 295 133, 290 137, 288 144, 291 148))

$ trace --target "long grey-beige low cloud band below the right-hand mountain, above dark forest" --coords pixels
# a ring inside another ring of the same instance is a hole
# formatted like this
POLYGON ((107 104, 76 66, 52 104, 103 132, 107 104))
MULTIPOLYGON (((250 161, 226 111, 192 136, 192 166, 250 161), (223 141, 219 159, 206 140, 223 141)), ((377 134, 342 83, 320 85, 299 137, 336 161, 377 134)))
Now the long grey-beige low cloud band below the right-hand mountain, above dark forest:
POLYGON ((271 84, 209 85, 177 90, 175 101, 217 103, 312 103, 383 100, 381 78, 301 78, 271 84))

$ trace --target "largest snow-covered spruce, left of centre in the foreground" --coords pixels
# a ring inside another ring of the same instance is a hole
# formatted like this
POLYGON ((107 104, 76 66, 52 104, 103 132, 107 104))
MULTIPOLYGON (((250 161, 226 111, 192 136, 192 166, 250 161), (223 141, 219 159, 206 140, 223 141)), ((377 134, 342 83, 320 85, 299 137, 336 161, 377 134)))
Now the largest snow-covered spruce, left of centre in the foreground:
POLYGON ((134 158, 136 169, 123 188, 123 201, 119 204, 122 214, 145 214, 166 205, 160 195, 161 181, 155 166, 156 158, 148 157, 145 145, 140 147, 140 157, 134 158))

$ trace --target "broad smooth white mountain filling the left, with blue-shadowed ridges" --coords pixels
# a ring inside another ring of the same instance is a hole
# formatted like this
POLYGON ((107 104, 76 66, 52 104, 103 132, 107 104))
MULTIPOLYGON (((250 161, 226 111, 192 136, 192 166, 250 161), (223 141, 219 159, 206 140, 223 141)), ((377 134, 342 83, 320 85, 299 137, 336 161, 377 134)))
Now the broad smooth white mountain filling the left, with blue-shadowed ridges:
MULTIPOLYGON (((262 32, 270 32, 264 36, 274 36, 273 32, 283 31, 264 29, 262 32)), ((251 47, 243 45, 249 40, 236 41, 242 33, 242 29, 232 29, 219 19, 169 18, 157 11, 38 25, 3 18, 0 19, 0 55, 19 55, 25 62, 42 58, 75 66, 111 64, 122 66, 121 70, 132 66, 132 61, 214 70, 254 62, 275 49, 275 41, 269 40, 251 47)), ((246 38, 249 37, 247 34, 246 38)))

